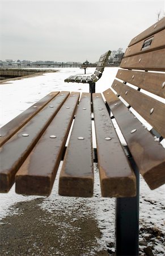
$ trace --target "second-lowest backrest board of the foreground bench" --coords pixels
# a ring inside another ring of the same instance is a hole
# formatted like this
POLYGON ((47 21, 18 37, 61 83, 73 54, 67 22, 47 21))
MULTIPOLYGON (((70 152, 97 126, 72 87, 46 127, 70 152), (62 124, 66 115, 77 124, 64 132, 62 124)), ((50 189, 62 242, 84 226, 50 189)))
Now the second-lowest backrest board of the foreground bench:
POLYGON ((165 104, 117 80, 112 88, 165 138, 165 104))

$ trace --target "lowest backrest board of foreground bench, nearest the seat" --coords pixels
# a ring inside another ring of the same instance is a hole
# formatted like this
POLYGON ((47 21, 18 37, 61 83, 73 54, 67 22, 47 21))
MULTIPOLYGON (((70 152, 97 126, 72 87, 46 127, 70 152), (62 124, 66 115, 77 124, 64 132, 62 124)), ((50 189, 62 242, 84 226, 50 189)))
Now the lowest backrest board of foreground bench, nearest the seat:
MULTIPOLYGON (((112 92, 103 92, 142 176, 151 189, 165 183, 165 150, 112 92), (132 133, 133 130, 136 131, 132 133)), ((120 160, 120 159, 119 159, 120 160)))

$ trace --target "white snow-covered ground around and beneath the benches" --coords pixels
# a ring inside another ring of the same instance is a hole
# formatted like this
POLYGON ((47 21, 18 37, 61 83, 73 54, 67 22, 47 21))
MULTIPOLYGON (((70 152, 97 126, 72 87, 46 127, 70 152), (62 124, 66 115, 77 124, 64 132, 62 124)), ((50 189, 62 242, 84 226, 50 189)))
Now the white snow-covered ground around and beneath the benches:
MULTIPOLYGON (((92 73, 95 68, 87 68, 87 73, 92 73)), ((88 85, 78 83, 65 83, 64 79, 70 75, 82 74, 82 69, 79 68, 63 68, 58 69, 56 73, 45 73, 43 76, 29 77, 27 79, 14 80, 0 84, 0 127, 9 122, 16 115, 23 112, 36 101, 43 98, 46 94, 56 90, 69 90, 78 92, 88 92, 88 85)), ((118 68, 105 68, 103 76, 96 83, 96 92, 103 92, 111 86, 115 79, 118 68)), ((98 247, 90 249, 88 255, 95 255, 94 251, 108 249, 111 244, 111 251, 114 251, 115 237, 115 200, 105 199, 100 196, 98 170, 95 167, 95 191, 94 197, 91 199, 75 199, 60 197, 57 194, 57 179, 54 183, 53 191, 49 197, 44 198, 40 204, 41 209, 48 212, 61 208, 65 212, 70 208, 77 207, 81 202, 86 203, 94 214, 101 232, 101 238, 98 240, 98 247), (56 200, 54 200, 54 198, 56 200)), ((154 255, 164 256, 165 249, 163 246, 165 233, 165 186, 162 186, 154 191, 147 187, 141 177, 141 195, 140 195, 140 234, 139 241, 140 255, 147 255, 143 249, 151 246, 154 255)), ((14 186, 7 194, 0 195, 0 224, 3 224, 3 218, 7 215, 16 214, 16 210, 12 210, 11 206, 21 201, 31 201, 38 196, 22 196, 17 195, 14 191, 14 186)), ((83 209, 79 214, 85 214, 83 209)), ((64 254, 59 254, 64 255, 64 254)), ((67 255, 66 255, 67 256, 67 255)))

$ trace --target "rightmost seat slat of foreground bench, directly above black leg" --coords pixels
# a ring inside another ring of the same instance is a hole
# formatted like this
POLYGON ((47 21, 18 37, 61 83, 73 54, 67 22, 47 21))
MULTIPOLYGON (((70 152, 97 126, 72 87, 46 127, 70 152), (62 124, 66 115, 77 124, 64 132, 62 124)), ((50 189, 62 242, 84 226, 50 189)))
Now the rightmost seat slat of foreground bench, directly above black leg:
POLYGON ((136 196, 136 176, 112 125, 100 93, 93 93, 94 119, 101 194, 104 197, 136 196))

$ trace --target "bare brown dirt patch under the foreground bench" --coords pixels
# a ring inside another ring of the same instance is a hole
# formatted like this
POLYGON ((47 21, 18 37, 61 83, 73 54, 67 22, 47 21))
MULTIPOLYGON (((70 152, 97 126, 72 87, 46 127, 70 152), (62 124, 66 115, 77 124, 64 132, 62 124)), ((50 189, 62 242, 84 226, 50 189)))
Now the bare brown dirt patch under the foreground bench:
POLYGON ((17 203, 12 207, 16 214, 3 218, 0 225, 1 256, 109 255, 107 251, 97 251, 97 238, 101 234, 94 217, 87 214, 78 218, 74 208, 68 215, 58 210, 52 214, 41 209, 43 200, 17 203))

